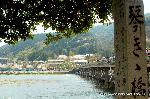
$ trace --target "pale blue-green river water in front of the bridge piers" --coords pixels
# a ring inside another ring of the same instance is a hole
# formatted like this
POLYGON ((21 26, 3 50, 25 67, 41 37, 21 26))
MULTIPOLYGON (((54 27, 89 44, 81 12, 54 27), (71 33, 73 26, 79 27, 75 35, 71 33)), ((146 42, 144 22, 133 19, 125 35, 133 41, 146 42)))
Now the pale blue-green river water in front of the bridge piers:
POLYGON ((0 99, 113 99, 73 74, 0 75, 0 99))

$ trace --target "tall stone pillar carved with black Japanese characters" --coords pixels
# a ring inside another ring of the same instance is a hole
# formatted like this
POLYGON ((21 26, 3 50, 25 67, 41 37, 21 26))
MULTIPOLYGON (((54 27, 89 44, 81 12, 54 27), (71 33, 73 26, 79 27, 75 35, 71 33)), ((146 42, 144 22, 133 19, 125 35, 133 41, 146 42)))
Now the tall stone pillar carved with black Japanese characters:
POLYGON ((113 0, 116 99, 147 99, 143 0, 113 0))

